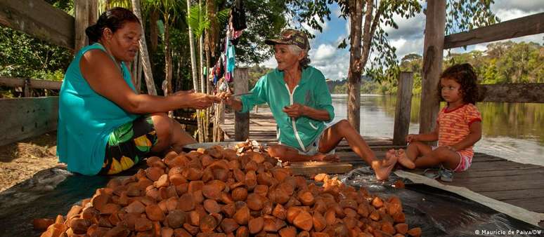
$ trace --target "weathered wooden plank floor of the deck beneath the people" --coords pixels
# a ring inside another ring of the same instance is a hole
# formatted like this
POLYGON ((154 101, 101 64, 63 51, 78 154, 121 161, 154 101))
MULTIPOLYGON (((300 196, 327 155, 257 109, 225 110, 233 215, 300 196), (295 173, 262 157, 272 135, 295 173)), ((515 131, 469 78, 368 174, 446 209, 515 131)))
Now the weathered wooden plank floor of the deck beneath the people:
MULTIPOLYGON (((226 140, 233 140, 233 114, 226 114, 225 123, 221 125, 226 140)), ((381 137, 364 137, 375 151, 378 158, 383 158, 385 151, 394 148, 391 139, 381 137)), ((276 122, 268 112, 250 114, 250 139, 261 143, 276 143, 276 122)), ((341 162, 358 167, 365 165, 348 147, 344 140, 337 148, 341 162)), ((413 172, 422 172, 415 170, 413 172)), ((477 153, 472 166, 467 172, 455 173, 453 182, 444 183, 466 187, 474 192, 517 205, 533 212, 544 212, 544 167, 507 161, 504 158, 477 153)), ((544 226, 540 222, 540 226, 544 226)))

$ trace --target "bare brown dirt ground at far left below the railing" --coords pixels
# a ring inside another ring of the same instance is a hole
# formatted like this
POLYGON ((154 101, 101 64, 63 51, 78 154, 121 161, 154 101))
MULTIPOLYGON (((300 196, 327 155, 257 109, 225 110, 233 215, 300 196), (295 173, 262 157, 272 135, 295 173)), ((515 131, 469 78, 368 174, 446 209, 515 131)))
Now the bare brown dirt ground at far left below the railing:
POLYGON ((0 191, 58 164, 57 134, 46 133, 0 147, 0 191))

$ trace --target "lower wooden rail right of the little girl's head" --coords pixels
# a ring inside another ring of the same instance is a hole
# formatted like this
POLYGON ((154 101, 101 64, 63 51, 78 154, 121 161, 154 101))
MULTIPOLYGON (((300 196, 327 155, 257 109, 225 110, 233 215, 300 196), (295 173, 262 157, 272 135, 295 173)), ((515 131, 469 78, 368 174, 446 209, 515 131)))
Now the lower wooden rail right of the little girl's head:
POLYGON ((483 102, 544 103, 544 83, 478 85, 478 90, 483 102))

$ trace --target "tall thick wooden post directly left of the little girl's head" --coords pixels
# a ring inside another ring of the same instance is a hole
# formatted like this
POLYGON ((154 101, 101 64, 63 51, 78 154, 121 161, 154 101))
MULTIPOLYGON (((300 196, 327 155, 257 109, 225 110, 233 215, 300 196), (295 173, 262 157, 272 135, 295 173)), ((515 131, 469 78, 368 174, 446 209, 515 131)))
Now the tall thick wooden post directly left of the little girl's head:
POLYGON ((425 43, 423 50, 420 133, 429 133, 436 126, 440 101, 436 85, 442 71, 446 0, 427 1, 425 43))

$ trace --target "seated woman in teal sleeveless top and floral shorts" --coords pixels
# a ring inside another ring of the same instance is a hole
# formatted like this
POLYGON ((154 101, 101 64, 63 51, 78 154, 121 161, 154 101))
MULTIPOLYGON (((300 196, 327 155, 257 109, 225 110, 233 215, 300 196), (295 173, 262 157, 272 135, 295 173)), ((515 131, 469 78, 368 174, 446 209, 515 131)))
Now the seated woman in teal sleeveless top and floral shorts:
POLYGON ((219 99, 191 92, 136 93, 124 64, 134 59, 141 38, 136 15, 112 8, 86 34, 92 44, 75 55, 60 88, 57 154, 68 170, 115 174, 149 152, 180 151, 195 142, 166 112, 203 109, 219 99))

